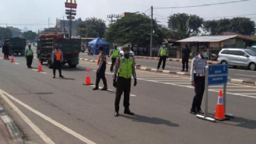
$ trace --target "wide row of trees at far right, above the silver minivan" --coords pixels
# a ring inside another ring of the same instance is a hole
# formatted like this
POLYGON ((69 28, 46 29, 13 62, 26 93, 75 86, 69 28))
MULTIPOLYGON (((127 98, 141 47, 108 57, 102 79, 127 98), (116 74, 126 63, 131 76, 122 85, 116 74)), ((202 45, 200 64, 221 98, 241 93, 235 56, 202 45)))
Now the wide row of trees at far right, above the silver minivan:
POLYGON ((203 29, 212 35, 218 35, 223 31, 236 32, 242 35, 255 34, 255 22, 246 17, 234 17, 232 19, 219 19, 205 21, 203 29))

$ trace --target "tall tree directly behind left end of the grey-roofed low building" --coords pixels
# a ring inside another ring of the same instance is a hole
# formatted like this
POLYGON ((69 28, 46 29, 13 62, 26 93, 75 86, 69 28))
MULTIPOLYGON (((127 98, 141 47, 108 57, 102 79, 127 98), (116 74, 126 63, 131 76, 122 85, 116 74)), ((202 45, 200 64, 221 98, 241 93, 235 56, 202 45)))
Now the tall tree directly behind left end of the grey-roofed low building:
POLYGON ((173 14, 168 20, 168 28, 177 33, 176 39, 184 39, 191 35, 200 33, 204 20, 197 15, 188 15, 185 13, 173 14))

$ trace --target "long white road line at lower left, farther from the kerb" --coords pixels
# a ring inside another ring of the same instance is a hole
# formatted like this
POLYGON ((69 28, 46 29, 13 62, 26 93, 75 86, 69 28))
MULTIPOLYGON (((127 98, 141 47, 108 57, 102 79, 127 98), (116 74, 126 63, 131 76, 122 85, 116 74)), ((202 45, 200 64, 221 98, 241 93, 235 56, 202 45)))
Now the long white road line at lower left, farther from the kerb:
MULTIPOLYGON (((38 115, 38 116, 41 116, 43 119, 45 119, 46 121, 52 123, 53 125, 55 125, 56 127, 59 127, 60 129, 64 130, 65 132, 69 133, 70 135, 80 139, 81 141, 87 143, 87 144, 96 144, 95 142, 89 140, 88 138, 76 133, 75 131, 73 131, 72 129, 58 123, 57 121, 51 119, 50 117, 48 116, 45 116, 44 114, 40 113, 39 111, 33 109, 32 107, 30 107, 29 105, 26 105, 25 103, 21 102, 20 100, 18 100, 17 98, 13 97, 12 95, 4 92, 3 90, 0 89, 0 91, 3 93, 3 94, 6 94, 10 99, 14 100, 15 102, 17 102, 18 104, 24 106, 25 108, 27 108, 28 110, 30 110, 31 112, 33 112, 34 114, 38 115)), ((24 115, 25 116, 25 115, 24 115)), ((23 117, 22 117, 23 118, 23 117)), ((42 138, 42 136, 40 135, 40 137, 42 138)), ((53 142, 52 143, 49 143, 49 144, 54 144, 53 142)))

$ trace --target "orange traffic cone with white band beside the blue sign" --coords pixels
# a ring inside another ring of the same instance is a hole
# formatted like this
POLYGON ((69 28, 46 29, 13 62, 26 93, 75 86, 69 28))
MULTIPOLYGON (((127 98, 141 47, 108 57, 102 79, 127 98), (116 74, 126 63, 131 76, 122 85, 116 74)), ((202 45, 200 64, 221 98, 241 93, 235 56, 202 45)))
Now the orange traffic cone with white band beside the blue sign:
POLYGON ((227 120, 224 114, 223 96, 222 96, 221 90, 219 91, 219 97, 218 97, 218 102, 216 105, 214 117, 216 120, 227 120))

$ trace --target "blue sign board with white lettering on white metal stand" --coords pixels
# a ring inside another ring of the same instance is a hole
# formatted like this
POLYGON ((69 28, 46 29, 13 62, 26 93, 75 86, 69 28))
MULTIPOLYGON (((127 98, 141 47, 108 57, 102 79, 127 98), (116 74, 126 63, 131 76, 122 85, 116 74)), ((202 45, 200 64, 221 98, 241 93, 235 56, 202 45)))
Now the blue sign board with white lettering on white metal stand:
MULTIPOLYGON (((224 112, 226 111, 226 96, 227 96, 227 80, 228 80, 228 65, 208 65, 205 67, 205 93, 204 93, 204 116, 196 115, 196 117, 215 122, 216 120, 207 117, 208 111, 208 87, 211 85, 223 84, 224 97, 224 112)), ((232 117, 232 114, 225 114, 232 117)))

